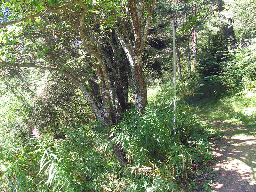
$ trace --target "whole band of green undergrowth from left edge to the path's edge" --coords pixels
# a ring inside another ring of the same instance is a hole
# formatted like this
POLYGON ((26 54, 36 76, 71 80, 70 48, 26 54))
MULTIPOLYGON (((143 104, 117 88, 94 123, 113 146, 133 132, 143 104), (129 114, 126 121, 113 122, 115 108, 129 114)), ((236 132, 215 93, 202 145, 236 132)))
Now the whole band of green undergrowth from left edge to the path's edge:
POLYGON ((59 139, 37 130, 24 139, 2 128, 1 191, 178 191, 195 164, 212 161, 209 132, 181 101, 174 125, 172 86, 157 90, 143 113, 130 110, 112 127, 112 140, 99 122, 67 127, 59 139))

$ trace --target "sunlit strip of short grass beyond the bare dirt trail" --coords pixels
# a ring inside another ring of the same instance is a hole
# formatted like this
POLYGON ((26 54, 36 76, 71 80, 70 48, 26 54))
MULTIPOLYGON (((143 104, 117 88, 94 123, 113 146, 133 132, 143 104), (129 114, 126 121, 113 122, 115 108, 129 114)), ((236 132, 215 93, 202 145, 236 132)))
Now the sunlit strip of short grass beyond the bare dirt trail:
MULTIPOLYGON (((213 119, 236 125, 256 126, 256 94, 248 91, 224 97, 219 100, 205 100, 194 104, 194 110, 201 119, 213 119)), ((253 134, 253 132, 252 132, 253 134)))

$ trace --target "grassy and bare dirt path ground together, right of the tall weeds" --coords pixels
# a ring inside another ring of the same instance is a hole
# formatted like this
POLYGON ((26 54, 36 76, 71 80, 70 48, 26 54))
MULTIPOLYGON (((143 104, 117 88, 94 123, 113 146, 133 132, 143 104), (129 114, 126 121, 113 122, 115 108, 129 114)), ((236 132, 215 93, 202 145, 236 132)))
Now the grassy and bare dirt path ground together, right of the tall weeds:
POLYGON ((211 141, 214 162, 200 168, 196 191, 256 192, 255 107, 236 96, 197 108, 217 137, 211 141))

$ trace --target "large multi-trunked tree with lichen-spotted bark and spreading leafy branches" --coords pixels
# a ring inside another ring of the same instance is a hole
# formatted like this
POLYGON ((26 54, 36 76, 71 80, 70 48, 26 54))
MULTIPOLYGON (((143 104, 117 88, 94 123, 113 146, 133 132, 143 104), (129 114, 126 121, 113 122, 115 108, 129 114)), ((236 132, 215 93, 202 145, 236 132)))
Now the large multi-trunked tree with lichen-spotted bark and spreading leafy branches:
MULTIPOLYGON (((1 4, 3 73, 24 67, 63 73, 81 89, 109 131, 128 106, 128 89, 134 90, 135 108, 145 108, 142 50, 155 0, 10 0, 1 4)), ((124 152, 118 146, 113 149, 125 163, 124 152)))

